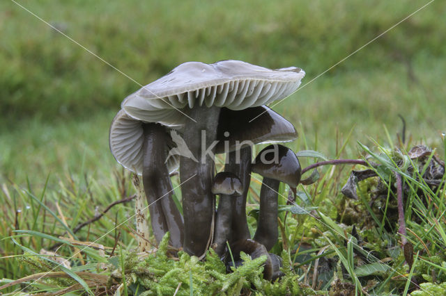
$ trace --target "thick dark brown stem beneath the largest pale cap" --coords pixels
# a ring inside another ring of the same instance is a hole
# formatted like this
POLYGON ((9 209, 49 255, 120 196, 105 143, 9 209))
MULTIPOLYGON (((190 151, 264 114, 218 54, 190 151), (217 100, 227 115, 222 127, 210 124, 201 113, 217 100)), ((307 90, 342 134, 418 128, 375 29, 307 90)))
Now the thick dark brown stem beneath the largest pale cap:
POLYGON ((211 224, 215 211, 211 192, 214 149, 207 145, 215 144, 220 108, 194 106, 194 108, 185 108, 185 113, 197 121, 185 124, 183 138, 187 148, 198 162, 185 156, 180 158, 185 223, 183 249, 190 255, 201 256, 206 252, 212 236, 211 224), (204 140, 206 142, 203 142, 204 140), (208 148, 209 154, 205 155, 208 148), (201 159, 202 156, 203 159, 201 159))

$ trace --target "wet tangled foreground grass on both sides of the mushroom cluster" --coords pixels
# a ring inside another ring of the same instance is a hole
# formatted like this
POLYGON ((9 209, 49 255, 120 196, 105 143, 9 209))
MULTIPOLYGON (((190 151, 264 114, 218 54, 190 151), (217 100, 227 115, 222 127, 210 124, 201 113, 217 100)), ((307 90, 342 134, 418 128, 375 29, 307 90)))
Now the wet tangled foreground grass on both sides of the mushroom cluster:
MULTIPOLYGON (((295 144, 305 147, 305 136, 295 144)), ((348 142, 337 143, 337 147, 348 145, 348 142)), ((148 264, 151 268, 154 268, 153 264, 157 264, 154 270, 167 268, 178 271, 184 270, 187 266, 190 268, 194 266, 192 278, 208 277, 209 281, 204 286, 195 286, 196 291, 206 290, 212 286, 213 289, 224 289, 221 291, 225 293, 232 293, 231 291, 249 293, 249 290, 261 288, 265 293, 294 291, 306 295, 316 293, 317 290, 320 291, 318 293, 322 293, 323 290, 331 292, 343 290, 344 293, 376 294, 403 294, 413 290, 420 290, 419 293, 422 293, 424 290, 424 293, 427 293, 425 295, 429 295, 431 293, 429 291, 432 290, 429 290, 427 284, 435 285, 446 280, 443 266, 446 264, 444 254, 446 229, 443 222, 446 175, 440 179, 440 186, 432 190, 424 181, 417 179, 420 175, 408 174, 407 166, 400 169, 392 158, 386 158, 394 155, 391 146, 389 143, 381 146, 375 142, 375 146, 369 149, 358 145, 359 149, 364 151, 364 155, 367 153, 374 156, 369 161, 381 165, 376 172, 390 186, 384 190, 387 192, 387 197, 377 198, 378 179, 374 178, 359 184, 358 201, 346 199, 340 190, 351 171, 348 165, 320 169, 320 179, 313 185, 299 186, 298 198, 289 205, 287 205, 289 189, 281 186, 279 189, 281 234, 279 242, 271 252, 282 254, 292 269, 291 273, 274 285, 259 278, 260 274, 256 271, 259 270, 260 261, 249 263, 251 265, 245 266, 245 269, 236 275, 226 278, 224 273, 219 276, 218 272, 217 274, 204 272, 209 266, 206 265, 208 266, 206 268, 188 256, 180 255, 179 263, 166 257, 163 259, 166 260, 166 266, 162 265, 160 258, 155 259, 157 256, 152 257, 154 255, 149 255, 145 261, 135 259, 136 255, 129 253, 137 247, 134 234, 134 208, 131 202, 114 206, 96 222, 78 229, 79 224, 102 213, 107 205, 133 194, 134 188, 130 187, 130 175, 127 172, 110 174, 109 181, 104 183, 99 183, 88 174, 82 178, 68 177, 59 181, 57 186, 45 184, 41 192, 33 190, 31 185, 3 184, 2 191, 5 198, 2 207, 1 260, 4 267, 1 272, 3 277, 8 279, 19 279, 36 272, 59 271, 65 272, 66 277, 72 277, 69 271, 61 270, 54 263, 60 263, 60 258, 66 258, 72 267, 72 272, 89 272, 104 277, 88 283, 75 277, 70 281, 55 281, 52 277, 56 277, 56 273, 49 273, 46 275, 49 279, 42 283, 25 281, 20 289, 28 290, 31 287, 35 291, 51 290, 56 287, 74 289, 73 287, 81 288, 78 286, 85 284, 92 289, 98 285, 102 287, 95 290, 95 293, 100 293, 107 285, 112 290, 121 289, 122 293, 125 290, 122 283, 124 276, 129 277, 126 285, 132 287, 132 293, 135 288, 145 290, 152 287, 165 291, 172 289, 173 279, 170 276, 164 277, 165 272, 159 275, 155 272, 155 276, 153 273, 144 275, 138 272, 138 266, 143 263, 138 265, 137 262, 141 261, 146 262, 144 264, 148 264), (408 230, 406 239, 413 246, 413 252, 410 254, 404 254, 401 250, 401 236, 397 233, 398 221, 394 214, 396 192, 392 189, 394 188, 392 181, 386 179, 393 178, 390 172, 401 174, 406 187, 404 194, 408 230), (78 231, 74 232, 75 229, 78 231), (99 246, 105 252, 98 253, 100 249, 98 251, 95 248, 85 247, 89 245, 89 241, 98 244, 95 246, 99 246), (41 249, 56 250, 60 256, 56 257, 59 261, 54 261, 54 257, 50 255, 38 255, 41 249), (117 253, 119 249, 123 251, 117 253), (45 258, 54 262, 50 261, 45 265, 43 263, 45 258), (412 265, 408 265, 410 262, 408 258, 413 258, 412 265), (34 263, 18 264, 20 261, 34 263), (101 262, 108 263, 109 268, 103 270, 101 262), (171 268, 168 268, 168 265, 171 268), (128 267, 120 268, 122 266, 128 267), (112 279, 105 281, 110 274, 112 279), (293 283, 298 282, 298 286, 286 286, 285 283, 291 279, 293 283), (149 284, 151 281, 159 284, 153 283, 155 286, 151 286, 149 284), (421 283, 424 283, 424 286, 420 286, 421 283), (206 285, 209 287, 206 288, 206 285)), ((340 150, 337 153, 344 154, 344 151, 340 150)), ((407 154, 403 152, 399 157, 403 157, 402 155, 407 154)), ((444 159, 444 156, 438 154, 437 156, 444 159)), ((302 164, 314 162, 313 157, 300 159, 302 164)), ((356 170, 364 168, 355 167, 356 170)), ((423 174, 423 171, 421 170, 420 174, 423 174)), ((174 176, 173 181, 174 184, 178 184, 178 176, 174 176)), ((261 176, 253 174, 247 206, 249 228, 253 233, 256 228, 255 217, 258 211, 260 186, 261 176)), ((80 275, 86 276, 86 274, 80 275)), ((183 281, 183 278, 181 279, 183 281)), ((8 282, 3 281, 3 283, 8 282)), ((188 291, 190 287, 186 284, 189 285, 185 281, 185 286, 181 289, 183 292, 188 291)), ((194 285, 199 283, 194 282, 194 285)), ((15 287, 17 289, 17 286, 15 287)))

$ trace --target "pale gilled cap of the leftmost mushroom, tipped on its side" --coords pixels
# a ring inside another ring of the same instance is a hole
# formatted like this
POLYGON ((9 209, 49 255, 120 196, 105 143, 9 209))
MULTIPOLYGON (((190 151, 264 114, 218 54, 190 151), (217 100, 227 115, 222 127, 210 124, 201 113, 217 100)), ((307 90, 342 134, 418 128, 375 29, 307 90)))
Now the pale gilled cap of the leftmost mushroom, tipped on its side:
MULTIPOLYGON (((132 119, 124 110, 120 110, 114 117, 109 132, 109 147, 116 161, 139 175, 142 174, 143 166, 143 123, 140 120, 132 119)), ((166 151, 169 151, 175 145, 173 142, 169 142, 164 147, 166 151)), ((178 156, 169 156, 166 165, 169 173, 175 172, 179 166, 178 156)))

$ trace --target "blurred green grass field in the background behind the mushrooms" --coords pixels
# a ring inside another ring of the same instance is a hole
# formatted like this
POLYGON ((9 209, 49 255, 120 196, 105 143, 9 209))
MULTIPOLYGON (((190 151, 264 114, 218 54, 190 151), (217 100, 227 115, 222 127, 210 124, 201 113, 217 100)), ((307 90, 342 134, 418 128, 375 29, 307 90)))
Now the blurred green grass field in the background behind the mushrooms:
MULTIPOLYGON (((143 85, 188 60, 302 67, 304 87, 275 110, 329 156, 352 128, 353 156, 356 140, 385 138, 383 125, 396 135, 398 114, 417 142, 438 147, 446 130, 444 1, 315 81, 427 1, 20 3, 143 85)), ((89 171, 111 170, 109 122, 139 85, 12 1, 0 3, 0 32, 1 182, 76 173, 82 159, 89 171)))

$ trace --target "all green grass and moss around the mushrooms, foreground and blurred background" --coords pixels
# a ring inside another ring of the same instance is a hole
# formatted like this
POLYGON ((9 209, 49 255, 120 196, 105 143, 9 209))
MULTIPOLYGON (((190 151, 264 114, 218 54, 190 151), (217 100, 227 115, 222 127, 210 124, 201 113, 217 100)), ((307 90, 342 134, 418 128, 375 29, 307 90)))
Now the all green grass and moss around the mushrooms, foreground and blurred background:
MULTIPOLYGON (((433 1, 308 85, 427 1, 225 1, 224 6, 217 1, 174 0, 19 3, 142 85, 187 60, 240 59, 272 68, 302 67, 307 76, 300 90, 275 106, 300 133, 291 143, 294 151, 312 149, 328 158, 388 153, 398 142, 395 135, 401 136, 398 115, 402 115, 409 140, 397 145, 401 155, 406 154, 403 148, 424 143, 445 160, 444 1, 433 1)), ((90 287, 94 292, 95 285, 103 288, 107 281, 120 287, 122 274, 128 281, 121 293, 134 293, 137 283, 140 291, 171 287, 169 277, 162 286, 164 280, 156 273, 134 278, 137 265, 130 263, 137 258, 132 253, 137 242, 131 202, 113 206, 75 232, 79 223, 134 193, 130 175, 109 153, 107 137, 120 102, 140 86, 12 1, 0 3, 0 31, 0 279, 47 272, 56 266, 54 262, 61 263, 54 254, 39 254, 41 249, 69 258, 71 267, 56 268, 43 281, 29 279, 1 293, 25 287, 54 293, 66 287, 72 291, 90 287), (99 245, 85 247, 88 241, 99 245)), ((444 187, 432 190, 392 163, 392 155, 374 161, 401 172, 408 186, 404 208, 408 241, 414 247, 412 268, 401 252, 392 187, 385 187, 386 198, 374 201, 372 207, 378 179, 367 179, 359 183, 360 200, 352 202, 340 193, 351 171, 348 166, 319 170, 318 182, 298 188, 299 207, 286 206, 282 199, 282 236, 273 252, 282 254, 292 268, 284 268, 286 276, 279 283, 259 277, 259 262, 224 274, 214 265, 209 268, 212 261, 199 263, 185 254, 178 261, 164 257, 162 248, 138 264, 159 264, 161 270, 176 270, 172 272, 182 269, 178 295, 222 290, 224 285, 226 292, 243 293, 330 290, 332 295, 354 295, 362 289, 397 294, 413 291, 415 283, 422 290, 413 295, 443 295, 444 187), (353 225, 357 237, 349 234, 353 225), (370 251, 365 259, 362 249, 370 251), (190 273, 185 273, 187 266, 190 273), (202 277, 214 284, 200 286, 197 279, 202 277)), ((303 158, 302 165, 314 161, 303 158)), ((382 176, 392 185, 392 174, 382 176)), ((177 176, 173 180, 178 184, 177 176)), ((441 182, 444 186, 444 178, 441 182)), ((253 178, 247 207, 253 230, 259 189, 253 178)), ((287 197, 287 188, 280 193, 287 197)))

